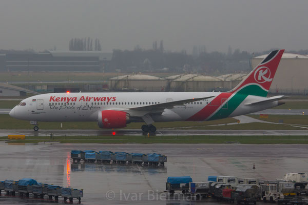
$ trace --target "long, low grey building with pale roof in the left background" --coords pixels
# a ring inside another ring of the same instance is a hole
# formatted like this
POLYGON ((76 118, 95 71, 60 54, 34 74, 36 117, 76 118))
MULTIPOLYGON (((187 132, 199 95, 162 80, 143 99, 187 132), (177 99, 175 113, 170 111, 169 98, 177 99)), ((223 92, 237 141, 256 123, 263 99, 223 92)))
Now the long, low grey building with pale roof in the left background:
POLYGON ((112 53, 101 51, 50 51, 50 53, 1 54, 2 71, 105 71, 112 53))

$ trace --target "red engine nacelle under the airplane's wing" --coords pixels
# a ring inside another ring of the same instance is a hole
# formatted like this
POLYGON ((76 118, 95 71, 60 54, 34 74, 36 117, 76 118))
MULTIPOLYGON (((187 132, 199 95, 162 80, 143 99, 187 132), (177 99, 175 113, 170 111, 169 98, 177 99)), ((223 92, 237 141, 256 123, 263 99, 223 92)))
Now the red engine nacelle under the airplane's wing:
POLYGON ((125 128, 129 123, 128 113, 117 110, 103 110, 99 112, 98 125, 100 128, 125 128))

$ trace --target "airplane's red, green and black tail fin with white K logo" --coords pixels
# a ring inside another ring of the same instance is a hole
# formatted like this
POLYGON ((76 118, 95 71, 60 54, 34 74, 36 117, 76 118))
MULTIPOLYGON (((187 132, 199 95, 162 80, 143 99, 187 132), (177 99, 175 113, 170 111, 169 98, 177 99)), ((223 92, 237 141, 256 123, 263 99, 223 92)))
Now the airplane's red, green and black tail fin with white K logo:
POLYGON ((261 63, 229 93, 241 93, 266 97, 273 82, 284 50, 272 51, 261 63))

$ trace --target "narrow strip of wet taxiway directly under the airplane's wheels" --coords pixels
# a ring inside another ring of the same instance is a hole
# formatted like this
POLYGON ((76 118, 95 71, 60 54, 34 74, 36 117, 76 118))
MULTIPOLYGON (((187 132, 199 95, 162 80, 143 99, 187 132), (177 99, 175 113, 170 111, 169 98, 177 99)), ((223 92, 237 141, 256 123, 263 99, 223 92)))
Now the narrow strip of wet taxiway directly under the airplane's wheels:
MULTIPOLYGON (((295 128, 296 126, 294 126, 295 128)), ((301 126, 307 128, 308 126, 301 126)), ((0 136, 9 134, 24 134, 26 136, 102 136, 102 135, 146 135, 141 130, 0 130, 0 136)), ((253 136, 253 135, 307 135, 307 130, 157 130, 157 136, 175 135, 228 135, 228 136, 253 136)))

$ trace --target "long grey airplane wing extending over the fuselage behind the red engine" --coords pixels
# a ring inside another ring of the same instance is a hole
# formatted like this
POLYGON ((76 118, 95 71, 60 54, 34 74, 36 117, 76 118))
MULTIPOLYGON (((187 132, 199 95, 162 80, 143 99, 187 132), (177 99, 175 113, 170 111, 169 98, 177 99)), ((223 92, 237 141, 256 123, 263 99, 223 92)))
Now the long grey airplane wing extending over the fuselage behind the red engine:
POLYGON ((164 110, 166 108, 174 108, 175 106, 182 106, 187 103, 192 103, 194 101, 199 101, 199 100, 208 99, 212 97, 216 97, 216 96, 183 99, 183 100, 171 101, 171 102, 160 103, 160 104, 155 104, 155 105, 147 105, 147 106, 129 108, 129 110, 139 110, 139 111, 164 110))

